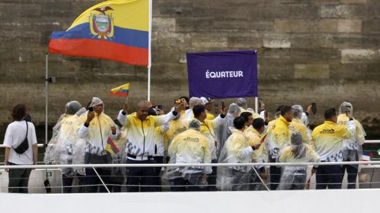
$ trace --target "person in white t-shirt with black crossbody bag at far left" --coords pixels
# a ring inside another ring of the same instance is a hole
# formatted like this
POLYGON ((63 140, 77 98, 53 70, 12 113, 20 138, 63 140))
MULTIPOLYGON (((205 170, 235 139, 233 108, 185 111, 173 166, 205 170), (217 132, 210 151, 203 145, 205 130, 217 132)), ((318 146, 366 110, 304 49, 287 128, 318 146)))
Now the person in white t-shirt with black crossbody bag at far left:
MULTIPOLYGON (((6 145, 5 165, 36 165, 37 164, 37 137, 32 122, 23 120, 26 116, 26 106, 16 104, 12 109, 13 122, 10 123, 4 137, 6 145), (28 130, 26 129, 28 127, 28 130), (28 149, 19 154, 15 149, 28 139, 28 149)), ((6 169, 9 172, 8 192, 28 193, 28 181, 32 169, 6 169)))

